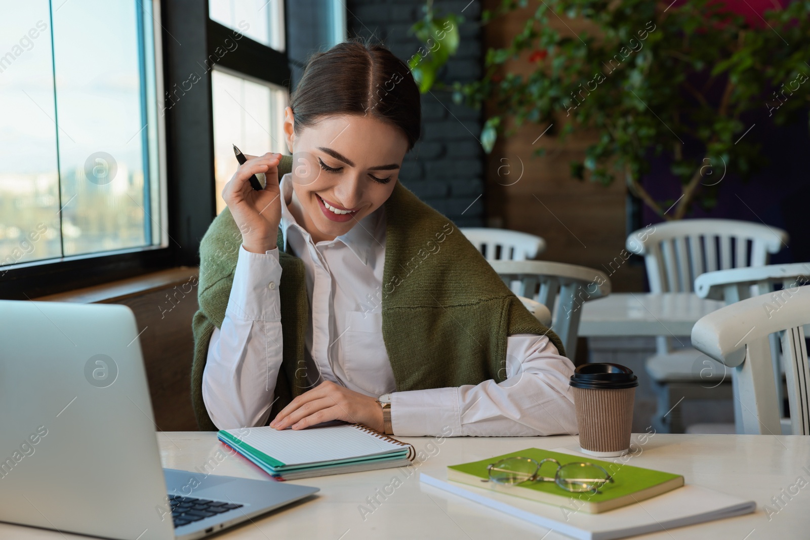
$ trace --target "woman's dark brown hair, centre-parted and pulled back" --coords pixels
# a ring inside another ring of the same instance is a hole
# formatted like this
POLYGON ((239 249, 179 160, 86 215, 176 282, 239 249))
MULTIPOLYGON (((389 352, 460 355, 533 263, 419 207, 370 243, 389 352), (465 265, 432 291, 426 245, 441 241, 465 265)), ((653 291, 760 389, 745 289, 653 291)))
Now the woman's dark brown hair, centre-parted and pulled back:
POLYGON ((295 133, 301 134, 323 117, 373 115, 402 130, 411 151, 422 123, 419 88, 411 70, 385 46, 360 39, 343 41, 309 57, 290 96, 295 133))

